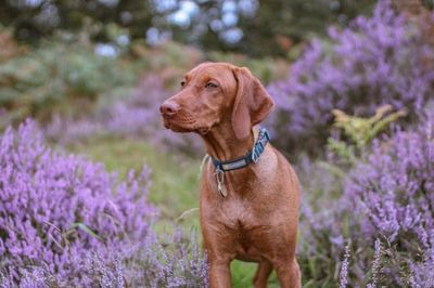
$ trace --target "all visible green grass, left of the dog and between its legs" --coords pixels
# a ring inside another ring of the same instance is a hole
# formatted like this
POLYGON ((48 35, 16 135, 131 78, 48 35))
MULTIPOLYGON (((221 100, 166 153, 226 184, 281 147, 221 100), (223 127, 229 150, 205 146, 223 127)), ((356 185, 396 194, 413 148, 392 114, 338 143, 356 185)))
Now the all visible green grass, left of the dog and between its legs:
MULTIPOLYGON (((196 208, 202 159, 176 156, 158 150, 143 141, 122 138, 90 138, 86 142, 69 145, 66 149, 102 162, 108 171, 117 170, 120 178, 130 169, 140 170, 143 165, 148 165, 152 169, 149 199, 162 212, 161 220, 155 225, 156 231, 170 230, 174 223, 199 231, 196 208)), ((256 263, 233 261, 233 287, 252 287, 256 267, 256 263)), ((276 273, 269 283, 271 288, 279 287, 276 273)))

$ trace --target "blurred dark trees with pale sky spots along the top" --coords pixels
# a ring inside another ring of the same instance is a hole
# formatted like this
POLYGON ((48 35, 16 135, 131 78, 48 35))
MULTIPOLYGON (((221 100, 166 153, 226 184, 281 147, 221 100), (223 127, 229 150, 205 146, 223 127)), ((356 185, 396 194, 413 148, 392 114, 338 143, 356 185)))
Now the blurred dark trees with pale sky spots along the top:
MULTIPOLYGON (((394 0, 404 1, 404 0, 394 0)), ((110 25, 130 39, 154 44, 166 39, 204 50, 251 56, 286 56, 288 51, 331 24, 345 26, 370 13, 376 0, 0 0, 0 23, 23 40, 56 29, 88 28, 93 40, 112 41, 110 25), (90 19, 90 21, 89 21, 90 19), (91 27, 88 27, 92 24, 91 27), (110 24, 110 25, 108 25, 110 24)), ((432 0, 408 0, 432 8, 432 0), (431 4, 430 4, 431 3, 431 4)))

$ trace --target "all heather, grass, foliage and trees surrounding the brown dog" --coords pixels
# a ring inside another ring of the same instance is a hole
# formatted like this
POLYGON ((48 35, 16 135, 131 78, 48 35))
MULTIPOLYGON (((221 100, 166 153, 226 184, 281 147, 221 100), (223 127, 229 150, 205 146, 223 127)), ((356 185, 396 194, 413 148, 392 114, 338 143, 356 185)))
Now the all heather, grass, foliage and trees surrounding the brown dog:
MULTIPOLYGON (((247 66, 276 101, 304 287, 434 286, 432 1, 1 5, 2 287, 207 287, 205 152, 158 113, 203 61, 247 66)), ((234 261, 233 286, 255 267, 234 261)))

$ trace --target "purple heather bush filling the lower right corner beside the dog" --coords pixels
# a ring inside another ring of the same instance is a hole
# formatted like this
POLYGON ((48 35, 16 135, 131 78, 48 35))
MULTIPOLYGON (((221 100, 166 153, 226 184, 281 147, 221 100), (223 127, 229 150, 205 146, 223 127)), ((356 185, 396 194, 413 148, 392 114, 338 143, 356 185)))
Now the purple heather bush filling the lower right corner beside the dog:
POLYGON ((374 140, 345 169, 303 160, 298 259, 312 285, 433 285, 434 127, 374 140), (346 171, 346 172, 345 172, 346 171), (312 178, 311 175, 320 175, 312 178), (350 240, 350 244, 349 244, 350 240))

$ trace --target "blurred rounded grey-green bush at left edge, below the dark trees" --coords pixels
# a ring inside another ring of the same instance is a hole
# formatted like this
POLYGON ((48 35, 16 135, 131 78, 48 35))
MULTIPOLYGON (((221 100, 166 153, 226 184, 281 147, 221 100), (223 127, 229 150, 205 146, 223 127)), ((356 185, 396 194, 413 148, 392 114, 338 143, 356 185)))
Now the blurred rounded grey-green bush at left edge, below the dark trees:
POLYGON ((11 112, 14 121, 28 115, 48 118, 61 105, 71 114, 82 112, 82 105, 68 104, 91 104, 110 90, 132 87, 136 66, 133 62, 98 55, 91 44, 47 41, 0 65, 0 106, 11 112))

